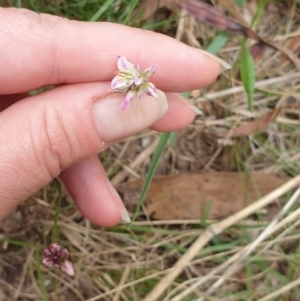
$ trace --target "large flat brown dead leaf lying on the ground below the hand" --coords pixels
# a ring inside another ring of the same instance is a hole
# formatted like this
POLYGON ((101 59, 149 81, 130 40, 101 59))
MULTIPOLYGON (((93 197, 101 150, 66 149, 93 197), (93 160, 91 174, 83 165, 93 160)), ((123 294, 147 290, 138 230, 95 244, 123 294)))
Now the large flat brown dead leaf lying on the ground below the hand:
MULTIPOLYGON (((148 214, 157 220, 208 219, 235 213, 289 179, 265 172, 178 174, 153 179, 146 200, 148 214)), ((143 180, 118 187, 126 205, 137 203, 143 180)))

